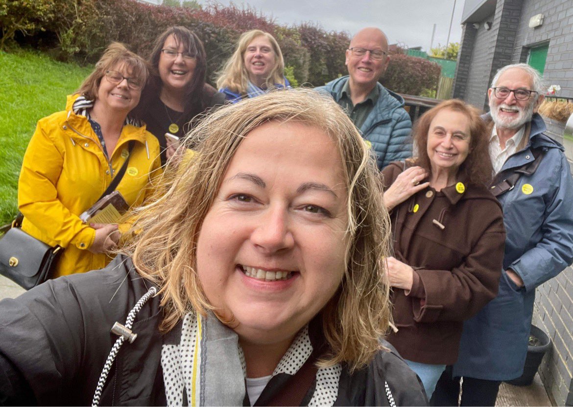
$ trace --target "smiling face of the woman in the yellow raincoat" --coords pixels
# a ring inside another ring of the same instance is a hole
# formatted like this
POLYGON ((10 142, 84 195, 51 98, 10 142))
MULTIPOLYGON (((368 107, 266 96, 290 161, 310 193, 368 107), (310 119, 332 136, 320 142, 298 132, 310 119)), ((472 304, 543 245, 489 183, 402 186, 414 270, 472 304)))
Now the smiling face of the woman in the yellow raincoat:
MULTIPOLYGON (((124 77, 133 78, 131 70, 127 69, 124 64, 114 65, 108 70, 117 71, 124 77)), ((100 86, 97 88, 95 103, 101 104, 105 110, 120 110, 127 114, 138 105, 141 94, 141 89, 129 88, 127 80, 123 79, 120 83, 113 83, 104 75, 101 78, 100 86)))

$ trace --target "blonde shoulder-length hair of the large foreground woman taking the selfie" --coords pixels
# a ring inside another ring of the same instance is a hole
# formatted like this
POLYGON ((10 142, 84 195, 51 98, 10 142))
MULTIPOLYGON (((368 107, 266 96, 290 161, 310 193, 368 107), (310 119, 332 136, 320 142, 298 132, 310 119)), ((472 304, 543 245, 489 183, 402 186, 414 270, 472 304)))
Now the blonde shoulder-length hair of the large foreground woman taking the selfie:
MULTIPOLYGON (((383 258, 389 255, 390 222, 382 204, 378 169, 362 137, 330 97, 312 90, 273 91, 223 107, 187 139, 199 139, 195 160, 179 165, 160 197, 136 211, 138 233, 124 253, 159 287, 168 331, 189 312, 213 309, 197 272, 197 240, 223 175, 250 131, 270 121, 319 127, 335 142, 348 191, 346 270, 339 289, 320 311, 329 353, 321 366, 363 367, 381 349, 391 317, 383 258)), ((159 195, 158 195, 159 196, 159 195)))

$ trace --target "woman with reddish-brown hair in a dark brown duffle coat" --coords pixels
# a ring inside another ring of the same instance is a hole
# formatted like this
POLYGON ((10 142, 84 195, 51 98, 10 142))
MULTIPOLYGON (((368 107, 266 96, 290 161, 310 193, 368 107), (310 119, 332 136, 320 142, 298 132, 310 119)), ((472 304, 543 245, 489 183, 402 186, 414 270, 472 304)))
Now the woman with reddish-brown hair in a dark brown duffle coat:
POLYGON ((387 258, 395 330, 388 340, 431 397, 456 362, 462 322, 497 294, 505 230, 488 139, 476 108, 448 100, 413 131, 418 158, 382 170, 394 254, 387 258))

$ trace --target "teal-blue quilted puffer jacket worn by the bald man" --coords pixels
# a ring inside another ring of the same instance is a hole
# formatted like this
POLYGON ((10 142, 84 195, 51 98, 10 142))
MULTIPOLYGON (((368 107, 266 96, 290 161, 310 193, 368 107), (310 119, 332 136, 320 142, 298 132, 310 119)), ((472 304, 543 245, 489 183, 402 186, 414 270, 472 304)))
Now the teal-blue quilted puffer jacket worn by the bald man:
MULTIPOLYGON (((347 80, 348 75, 339 77, 317 87, 316 90, 328 92, 338 103, 347 80)), ((412 156, 412 122, 403 108, 402 96, 387 90, 379 83, 376 86, 380 92, 378 102, 360 127, 360 133, 376 152, 376 164, 381 170, 392 161, 401 161, 412 156)))

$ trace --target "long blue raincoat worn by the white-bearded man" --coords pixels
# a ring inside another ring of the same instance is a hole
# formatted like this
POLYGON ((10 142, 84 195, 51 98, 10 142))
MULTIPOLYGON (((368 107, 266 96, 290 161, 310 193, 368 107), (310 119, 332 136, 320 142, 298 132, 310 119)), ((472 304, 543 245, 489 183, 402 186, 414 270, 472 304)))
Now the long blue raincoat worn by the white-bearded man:
POLYGON ((527 146, 509 157, 501 171, 533 160, 531 148, 547 150, 531 176, 523 175, 500 195, 505 240, 504 270, 523 279, 517 285, 502 273, 496 299, 464 323, 453 375, 504 381, 523 373, 535 288, 573 261, 573 178, 564 148, 543 134, 539 114, 531 121, 527 146))

